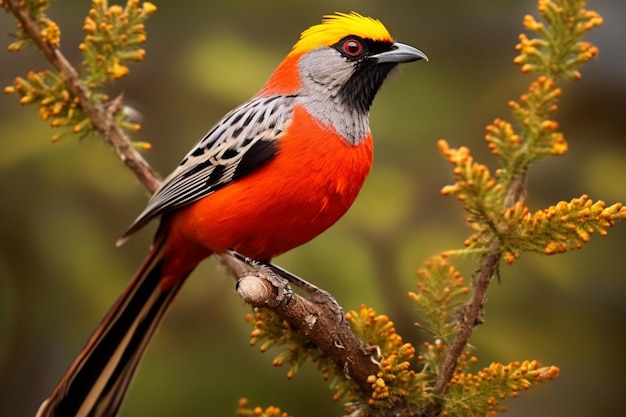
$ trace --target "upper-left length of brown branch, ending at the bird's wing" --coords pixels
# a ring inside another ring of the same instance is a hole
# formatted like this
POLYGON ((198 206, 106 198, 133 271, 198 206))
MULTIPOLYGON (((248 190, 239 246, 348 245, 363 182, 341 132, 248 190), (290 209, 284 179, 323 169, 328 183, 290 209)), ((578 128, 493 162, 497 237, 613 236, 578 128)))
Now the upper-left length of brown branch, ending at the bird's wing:
MULTIPOLYGON (((4 0, 4 5, 22 24, 22 29, 43 52, 50 64, 65 78, 68 90, 78 99, 81 108, 90 118, 94 128, 102 135, 104 141, 115 149, 122 162, 153 193, 159 186, 159 176, 134 148, 124 131, 116 125, 115 112, 108 111, 102 102, 91 99, 91 92, 80 78, 78 71, 69 63, 58 48, 53 47, 44 40, 41 36, 39 23, 28 14, 28 10, 19 0, 4 0)), ((110 108, 119 110, 120 107, 119 105, 112 105, 110 108)))

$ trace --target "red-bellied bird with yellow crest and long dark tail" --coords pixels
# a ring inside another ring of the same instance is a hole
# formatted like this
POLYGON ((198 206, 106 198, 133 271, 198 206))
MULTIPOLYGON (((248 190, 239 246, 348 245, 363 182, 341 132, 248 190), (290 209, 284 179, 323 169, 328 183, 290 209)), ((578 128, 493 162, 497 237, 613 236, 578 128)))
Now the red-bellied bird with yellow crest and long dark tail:
POLYGON ((369 111, 400 63, 427 60, 357 12, 304 30, 266 84, 183 157, 118 244, 159 225, 146 259, 37 417, 112 417, 186 278, 234 250, 269 262, 349 209, 373 158, 369 111))

